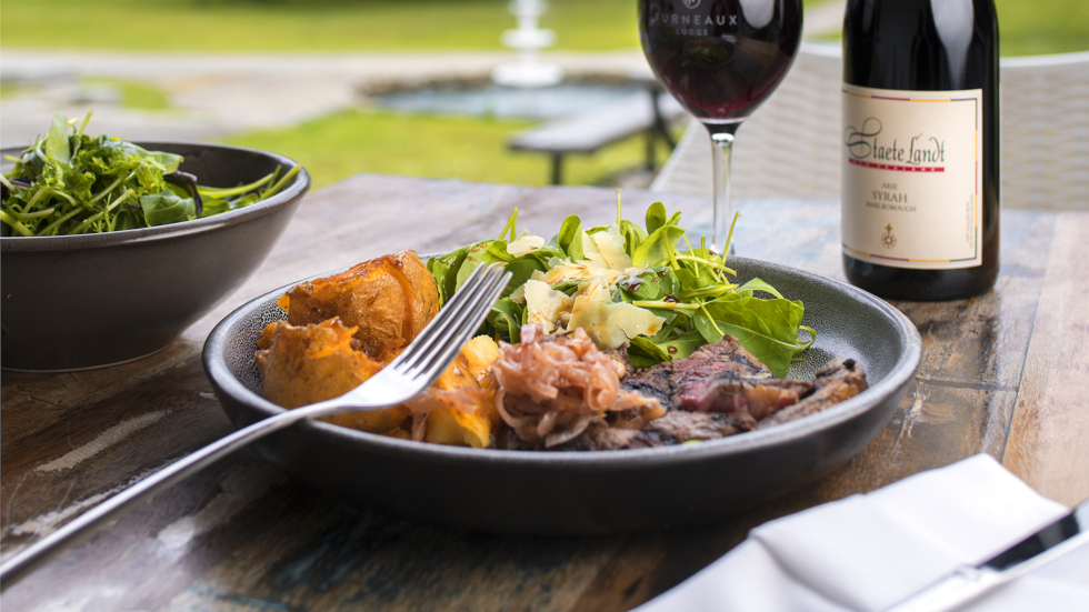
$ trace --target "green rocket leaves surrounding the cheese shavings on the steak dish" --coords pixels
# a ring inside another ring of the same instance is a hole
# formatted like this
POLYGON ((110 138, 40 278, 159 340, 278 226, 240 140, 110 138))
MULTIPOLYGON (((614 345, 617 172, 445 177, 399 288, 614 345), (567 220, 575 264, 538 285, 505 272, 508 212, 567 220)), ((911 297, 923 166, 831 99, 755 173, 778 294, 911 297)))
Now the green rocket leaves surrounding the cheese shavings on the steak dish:
POLYGON ((702 244, 679 250, 679 243, 686 242, 680 213, 667 214, 661 202, 647 210, 642 227, 620 219, 619 202, 612 225, 586 230, 578 215, 570 215, 551 240, 537 239, 539 247, 528 251, 514 248, 516 241, 526 240, 516 235, 517 215, 514 209, 498 239, 468 244, 428 262, 443 302, 478 265, 501 262, 513 273, 484 324, 484 332, 496 338, 518 342, 519 328, 530 319, 522 289, 527 281, 544 280, 553 292, 573 298, 601 278, 595 281, 580 274, 597 273, 611 279, 611 303, 626 302, 665 320, 653 335, 629 339, 628 354, 636 368, 686 358, 729 334, 775 375, 783 377, 816 337, 801 324, 805 307, 800 301, 786 299, 760 279, 738 284, 726 261, 702 244), (601 263, 598 247, 605 242, 600 235, 611 235, 611 244, 622 239, 630 268, 615 270, 601 263), (802 330, 809 340, 799 340, 802 330))

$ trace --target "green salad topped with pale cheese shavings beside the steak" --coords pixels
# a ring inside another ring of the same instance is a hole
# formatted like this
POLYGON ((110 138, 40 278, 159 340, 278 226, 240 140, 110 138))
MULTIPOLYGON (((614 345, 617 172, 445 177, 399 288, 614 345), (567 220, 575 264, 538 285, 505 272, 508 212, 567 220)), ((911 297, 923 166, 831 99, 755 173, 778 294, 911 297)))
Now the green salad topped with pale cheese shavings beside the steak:
MULTIPOLYGON (((583 228, 571 215, 546 242, 518 233, 516 208, 499 238, 431 258, 428 270, 446 302, 478 265, 502 263, 512 279, 488 317, 489 335, 513 344, 524 323, 548 333, 582 328, 600 349, 627 344, 637 369, 686 358, 729 334, 785 377, 816 340, 801 324, 800 301, 760 279, 735 282, 737 273, 706 238, 699 247, 688 243, 680 212, 667 215, 657 202, 642 227, 620 217, 618 193, 615 223, 583 228), (802 330, 808 340, 799 339, 802 330)), ((732 235, 733 227, 727 251, 732 235)))

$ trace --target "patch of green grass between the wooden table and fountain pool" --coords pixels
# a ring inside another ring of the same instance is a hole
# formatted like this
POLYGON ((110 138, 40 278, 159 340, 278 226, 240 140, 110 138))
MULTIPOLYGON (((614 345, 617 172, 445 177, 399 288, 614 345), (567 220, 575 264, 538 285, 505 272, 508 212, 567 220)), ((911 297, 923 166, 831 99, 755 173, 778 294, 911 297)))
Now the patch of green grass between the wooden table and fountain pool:
MULTIPOLYGON (((299 161, 310 171, 314 188, 358 172, 547 184, 548 155, 507 150, 510 134, 529 126, 532 122, 520 120, 351 110, 222 141, 277 151, 299 161)), ((642 138, 636 137, 593 155, 568 155, 563 182, 615 184, 619 173, 643 162, 643 147, 642 138)), ((659 162, 668 154, 659 143, 659 162)))

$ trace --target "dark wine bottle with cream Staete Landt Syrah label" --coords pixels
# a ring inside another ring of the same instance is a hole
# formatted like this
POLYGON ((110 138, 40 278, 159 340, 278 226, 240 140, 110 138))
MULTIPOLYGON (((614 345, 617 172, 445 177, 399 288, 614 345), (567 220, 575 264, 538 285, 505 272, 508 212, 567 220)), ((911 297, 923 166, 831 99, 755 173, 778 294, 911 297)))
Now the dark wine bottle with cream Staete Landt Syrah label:
POLYGON ((986 293, 999 265, 993 0, 848 0, 843 272, 889 299, 986 293))

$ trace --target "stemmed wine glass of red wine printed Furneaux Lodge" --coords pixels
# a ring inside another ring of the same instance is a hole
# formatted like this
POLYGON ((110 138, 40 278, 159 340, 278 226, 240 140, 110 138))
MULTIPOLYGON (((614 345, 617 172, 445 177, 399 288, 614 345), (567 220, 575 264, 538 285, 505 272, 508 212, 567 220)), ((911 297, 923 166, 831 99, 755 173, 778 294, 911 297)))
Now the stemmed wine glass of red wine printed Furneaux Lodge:
POLYGON ((725 255, 735 133, 790 69, 801 0, 639 0, 639 40, 662 87, 711 136, 711 242, 725 255))

